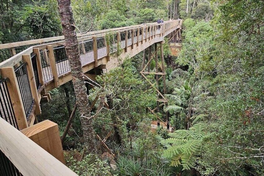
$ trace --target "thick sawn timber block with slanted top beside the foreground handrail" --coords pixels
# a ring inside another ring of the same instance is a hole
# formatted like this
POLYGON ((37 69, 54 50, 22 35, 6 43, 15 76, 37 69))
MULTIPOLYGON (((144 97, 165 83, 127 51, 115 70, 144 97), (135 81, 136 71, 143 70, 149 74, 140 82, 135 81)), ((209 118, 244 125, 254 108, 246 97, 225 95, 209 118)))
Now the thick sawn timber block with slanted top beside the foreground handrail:
POLYGON ((56 123, 45 120, 23 129, 21 132, 61 161, 61 163, 65 164, 59 127, 56 123))

